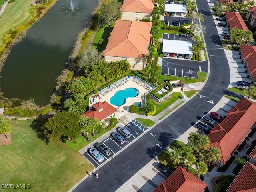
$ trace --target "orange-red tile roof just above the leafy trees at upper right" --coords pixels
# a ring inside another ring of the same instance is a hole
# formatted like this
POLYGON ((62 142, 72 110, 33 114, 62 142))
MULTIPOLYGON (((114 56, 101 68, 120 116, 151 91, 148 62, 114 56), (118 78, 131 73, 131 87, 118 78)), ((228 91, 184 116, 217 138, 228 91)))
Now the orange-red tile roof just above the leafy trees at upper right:
POLYGON ((245 31, 249 31, 248 27, 246 26, 242 16, 240 13, 237 12, 226 12, 225 13, 227 21, 230 23, 230 28, 238 28, 245 31))

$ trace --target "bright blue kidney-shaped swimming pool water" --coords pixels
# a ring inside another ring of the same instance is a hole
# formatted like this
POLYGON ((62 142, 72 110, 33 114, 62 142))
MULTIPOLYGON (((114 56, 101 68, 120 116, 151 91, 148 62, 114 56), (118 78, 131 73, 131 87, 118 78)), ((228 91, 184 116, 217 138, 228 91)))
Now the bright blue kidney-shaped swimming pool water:
POLYGON ((127 88, 125 90, 120 90, 110 98, 110 103, 116 106, 123 105, 126 103, 126 99, 128 97, 136 97, 139 95, 139 93, 139 90, 136 88, 127 88))

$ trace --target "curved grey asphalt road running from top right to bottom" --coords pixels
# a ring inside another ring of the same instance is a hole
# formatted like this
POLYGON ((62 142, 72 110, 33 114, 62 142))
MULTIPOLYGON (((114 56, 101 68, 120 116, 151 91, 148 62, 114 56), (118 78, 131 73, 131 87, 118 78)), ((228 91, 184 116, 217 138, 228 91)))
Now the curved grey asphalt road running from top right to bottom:
POLYGON ((208 28, 204 38, 211 63, 210 76, 204 88, 200 91, 200 94, 206 96, 206 98, 200 98, 199 95, 196 95, 184 104, 182 108, 176 110, 171 116, 168 116, 168 118, 97 170, 99 178, 86 179, 73 191, 116 191, 124 182, 160 153, 162 149, 186 132, 204 113, 208 112, 214 106, 207 102, 208 100, 212 100, 216 104, 224 95, 230 82, 228 61, 222 46, 217 46, 221 45, 221 42, 207 1, 197 0, 196 2, 198 11, 204 15, 204 24, 208 28), (151 136, 150 132, 155 134, 156 137, 151 136), (159 144, 162 148, 156 144, 159 144))

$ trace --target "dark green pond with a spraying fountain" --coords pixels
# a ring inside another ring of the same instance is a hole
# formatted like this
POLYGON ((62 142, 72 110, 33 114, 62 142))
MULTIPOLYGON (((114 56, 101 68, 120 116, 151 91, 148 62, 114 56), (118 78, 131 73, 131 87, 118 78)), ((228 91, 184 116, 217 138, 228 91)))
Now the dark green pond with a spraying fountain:
POLYGON ((98 0, 73 0, 72 6, 79 9, 74 9, 75 16, 65 11, 68 5, 70 0, 57 1, 12 48, 0 78, 4 97, 34 98, 38 105, 49 103, 55 79, 65 68, 78 32, 86 27, 98 0))

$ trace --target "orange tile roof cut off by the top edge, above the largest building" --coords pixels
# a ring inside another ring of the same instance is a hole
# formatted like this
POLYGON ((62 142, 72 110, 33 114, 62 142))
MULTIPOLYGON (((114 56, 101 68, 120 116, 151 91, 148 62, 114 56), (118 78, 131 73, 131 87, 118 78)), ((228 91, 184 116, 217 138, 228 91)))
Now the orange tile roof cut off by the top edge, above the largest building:
POLYGON ((154 1, 124 0, 121 10, 124 12, 152 13, 154 10, 154 1))

